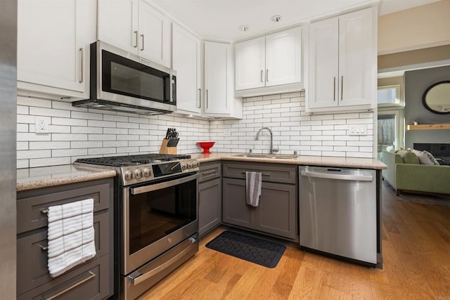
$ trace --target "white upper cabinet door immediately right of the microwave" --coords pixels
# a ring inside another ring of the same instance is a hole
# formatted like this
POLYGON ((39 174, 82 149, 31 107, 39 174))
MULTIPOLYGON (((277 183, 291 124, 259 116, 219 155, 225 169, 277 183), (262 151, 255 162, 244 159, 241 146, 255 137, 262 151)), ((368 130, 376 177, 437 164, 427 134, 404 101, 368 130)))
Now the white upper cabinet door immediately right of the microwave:
POLYGON ((200 39, 176 24, 172 24, 172 68, 176 110, 200 114, 200 39))

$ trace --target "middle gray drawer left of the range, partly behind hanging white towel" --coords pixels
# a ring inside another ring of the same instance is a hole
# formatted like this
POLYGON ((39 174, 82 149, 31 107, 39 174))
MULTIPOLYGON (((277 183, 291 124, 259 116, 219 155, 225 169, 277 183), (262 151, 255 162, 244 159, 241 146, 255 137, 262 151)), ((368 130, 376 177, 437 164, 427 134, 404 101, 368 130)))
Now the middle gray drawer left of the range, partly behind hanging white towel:
MULTIPOLYGON (((110 242, 110 214, 108 211, 94 215, 94 230, 97 255, 96 258, 105 256, 109 252, 110 242)), ((51 278, 47 267, 47 252, 42 247, 47 246, 47 230, 26 235, 17 240, 17 271, 20 278, 17 280, 17 294, 23 294, 46 282, 60 281, 60 278, 71 278, 72 272, 79 266, 56 278, 51 278)), ((89 263, 89 261, 87 262, 89 263)), ((108 280, 105 280, 108 281, 108 280)))

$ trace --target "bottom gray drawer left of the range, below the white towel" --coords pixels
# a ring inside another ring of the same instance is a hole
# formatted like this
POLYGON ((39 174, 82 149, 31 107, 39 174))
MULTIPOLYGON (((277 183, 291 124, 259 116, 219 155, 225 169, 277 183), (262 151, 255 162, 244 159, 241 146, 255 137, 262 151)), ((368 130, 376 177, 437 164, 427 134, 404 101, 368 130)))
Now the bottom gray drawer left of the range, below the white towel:
MULTIPOLYGON (((85 263, 80 268, 61 275, 51 282, 41 285, 30 292, 17 297, 18 300, 56 299, 105 299, 111 294, 109 287, 110 272, 108 255, 85 263)), ((19 282, 20 280, 18 280, 19 282)))

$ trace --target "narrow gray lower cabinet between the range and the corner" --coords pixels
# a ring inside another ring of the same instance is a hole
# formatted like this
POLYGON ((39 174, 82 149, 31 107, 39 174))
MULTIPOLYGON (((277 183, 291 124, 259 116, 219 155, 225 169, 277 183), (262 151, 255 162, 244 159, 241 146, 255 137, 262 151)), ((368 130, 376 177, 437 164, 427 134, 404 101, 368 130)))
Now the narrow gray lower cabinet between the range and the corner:
POLYGON ((200 164, 198 183, 198 227, 200 236, 221 224, 221 164, 200 164))

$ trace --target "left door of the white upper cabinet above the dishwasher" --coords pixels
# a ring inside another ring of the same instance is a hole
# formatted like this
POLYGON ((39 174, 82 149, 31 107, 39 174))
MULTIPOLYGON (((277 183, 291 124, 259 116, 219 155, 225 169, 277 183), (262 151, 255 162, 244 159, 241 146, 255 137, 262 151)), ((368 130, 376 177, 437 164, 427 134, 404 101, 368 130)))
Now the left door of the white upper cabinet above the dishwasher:
POLYGON ((338 106, 338 18, 309 26, 309 108, 338 106))

